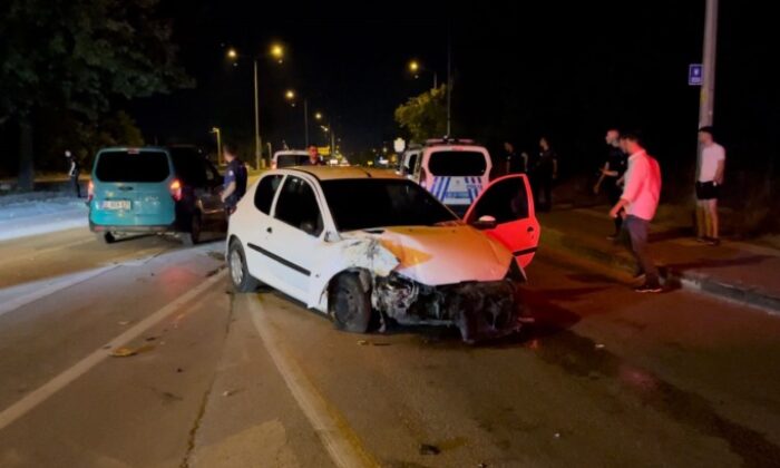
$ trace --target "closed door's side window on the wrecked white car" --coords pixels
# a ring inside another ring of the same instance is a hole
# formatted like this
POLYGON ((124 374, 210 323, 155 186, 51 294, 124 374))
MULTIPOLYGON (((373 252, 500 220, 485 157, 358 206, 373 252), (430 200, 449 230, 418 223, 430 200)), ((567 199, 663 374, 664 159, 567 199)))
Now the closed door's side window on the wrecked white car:
POLYGON ((308 182, 299 177, 289 176, 284 182, 274 216, 315 237, 324 227, 314 191, 308 182))

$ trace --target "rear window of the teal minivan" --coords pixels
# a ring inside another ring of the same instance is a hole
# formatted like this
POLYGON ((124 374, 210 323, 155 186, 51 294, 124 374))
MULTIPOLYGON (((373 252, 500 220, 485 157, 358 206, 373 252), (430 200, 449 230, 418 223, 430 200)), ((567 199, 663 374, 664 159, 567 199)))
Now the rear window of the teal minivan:
POLYGON ((163 152, 104 152, 95 167, 100 182, 163 182, 169 175, 168 156, 163 152))

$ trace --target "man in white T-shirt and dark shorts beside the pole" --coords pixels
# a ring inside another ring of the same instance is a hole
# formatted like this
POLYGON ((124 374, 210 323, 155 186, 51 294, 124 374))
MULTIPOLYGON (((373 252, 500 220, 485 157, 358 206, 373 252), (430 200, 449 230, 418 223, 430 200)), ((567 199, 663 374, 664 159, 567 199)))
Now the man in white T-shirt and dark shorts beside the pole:
POLYGON ((698 241, 719 245, 718 197, 723 185, 725 149, 715 143, 712 127, 699 130, 702 145, 699 167, 696 167, 696 231, 698 241))

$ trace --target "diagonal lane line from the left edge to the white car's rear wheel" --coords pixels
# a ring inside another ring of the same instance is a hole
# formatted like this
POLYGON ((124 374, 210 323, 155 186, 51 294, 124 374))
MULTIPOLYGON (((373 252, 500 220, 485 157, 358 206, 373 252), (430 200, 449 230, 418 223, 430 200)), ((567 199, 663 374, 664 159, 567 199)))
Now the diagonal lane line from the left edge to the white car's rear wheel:
MULTIPOLYGON (((176 312, 178 309, 181 309, 182 306, 201 295, 203 292, 212 287, 214 284, 224 280, 224 277, 225 271, 223 270, 214 276, 209 277, 208 280, 204 281, 203 283, 198 284, 197 286, 193 287, 192 290, 187 291, 178 299, 163 306, 163 309, 159 309, 152 315, 133 325, 120 335, 114 338, 109 341, 109 344, 111 345, 111 348, 114 348, 135 340, 136 338, 142 335, 146 330, 150 329, 166 316, 176 312)), ((71 368, 65 370, 53 379, 42 384, 41 387, 26 394, 21 400, 2 410, 2 412, 0 412, 0 430, 7 428, 11 422, 21 418, 27 412, 36 408, 38 404, 46 401, 49 397, 51 397, 62 388, 67 387, 79 377, 87 373, 87 371, 92 369, 95 365, 99 364, 103 360, 108 358, 108 350, 99 348, 98 350, 94 351, 92 353, 74 364, 71 368)))

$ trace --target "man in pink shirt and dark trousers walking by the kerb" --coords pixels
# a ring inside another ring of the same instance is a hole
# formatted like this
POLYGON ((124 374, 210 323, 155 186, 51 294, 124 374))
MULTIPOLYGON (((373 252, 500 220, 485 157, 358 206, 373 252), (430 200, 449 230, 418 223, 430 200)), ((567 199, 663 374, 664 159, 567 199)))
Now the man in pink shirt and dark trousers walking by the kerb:
POLYGON ((638 263, 637 277, 644 275, 644 284, 634 289, 641 293, 661 292, 659 270, 647 253, 647 231, 655 216, 661 196, 661 167, 642 147, 637 134, 626 134, 621 143, 628 156, 628 169, 625 173, 625 188, 621 199, 612 207, 610 216, 623 216, 623 231, 627 234, 631 252, 638 263))

